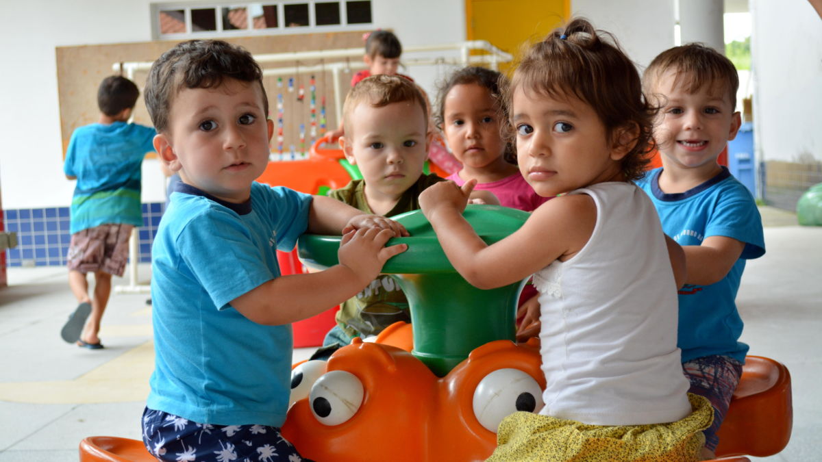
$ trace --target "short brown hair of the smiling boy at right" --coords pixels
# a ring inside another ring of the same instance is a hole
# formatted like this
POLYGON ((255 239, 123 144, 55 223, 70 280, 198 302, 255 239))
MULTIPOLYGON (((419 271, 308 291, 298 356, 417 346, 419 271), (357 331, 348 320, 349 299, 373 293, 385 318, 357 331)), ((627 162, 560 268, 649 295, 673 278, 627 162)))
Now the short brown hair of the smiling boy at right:
MULTIPOLYGON (((665 72, 677 72, 674 85, 683 85, 687 93, 694 93, 702 85, 721 82, 731 99, 731 110, 737 109, 739 73, 733 62, 722 53, 704 44, 684 44, 659 53, 645 69, 643 84, 645 95, 653 96, 653 86, 665 72)), ((710 87, 709 87, 710 88, 710 87)))

